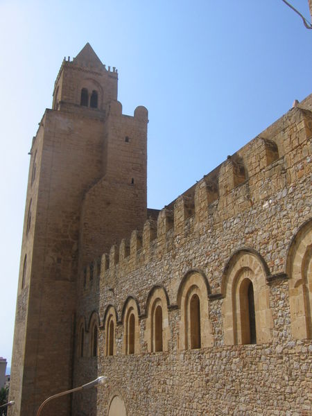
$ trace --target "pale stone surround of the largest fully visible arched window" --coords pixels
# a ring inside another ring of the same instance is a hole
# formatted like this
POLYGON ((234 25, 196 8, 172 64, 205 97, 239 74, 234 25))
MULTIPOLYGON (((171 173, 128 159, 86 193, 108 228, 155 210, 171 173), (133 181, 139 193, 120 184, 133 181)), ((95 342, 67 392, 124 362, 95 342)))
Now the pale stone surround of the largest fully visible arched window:
POLYGON ((222 306, 225 345, 243 344, 245 322, 242 304, 242 288, 247 279, 254 290, 254 313, 257 344, 272 340, 272 312, 270 291, 266 283, 268 267, 261 257, 252 251, 241 250, 229 260, 222 282, 225 296, 222 306))

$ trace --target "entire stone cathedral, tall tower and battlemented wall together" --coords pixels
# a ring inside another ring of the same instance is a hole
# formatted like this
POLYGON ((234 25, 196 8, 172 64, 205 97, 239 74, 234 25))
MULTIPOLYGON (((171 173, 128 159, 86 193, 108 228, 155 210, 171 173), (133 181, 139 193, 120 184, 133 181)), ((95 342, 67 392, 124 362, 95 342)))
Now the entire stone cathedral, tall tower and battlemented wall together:
POLYGON ((312 95, 162 210, 89 44, 31 146, 8 415, 311 415, 312 95))

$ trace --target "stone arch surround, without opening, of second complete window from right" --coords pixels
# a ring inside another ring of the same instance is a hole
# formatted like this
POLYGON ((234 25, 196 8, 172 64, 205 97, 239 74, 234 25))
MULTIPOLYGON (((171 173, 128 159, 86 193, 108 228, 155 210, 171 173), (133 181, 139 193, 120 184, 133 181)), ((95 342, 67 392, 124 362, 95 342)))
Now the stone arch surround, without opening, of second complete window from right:
POLYGON ((208 304, 209 285, 205 275, 198 270, 190 270, 181 281, 177 293, 180 307, 180 333, 178 349, 191 348, 191 299, 198 296, 200 302, 200 347, 211 347, 214 343, 211 333, 208 304))

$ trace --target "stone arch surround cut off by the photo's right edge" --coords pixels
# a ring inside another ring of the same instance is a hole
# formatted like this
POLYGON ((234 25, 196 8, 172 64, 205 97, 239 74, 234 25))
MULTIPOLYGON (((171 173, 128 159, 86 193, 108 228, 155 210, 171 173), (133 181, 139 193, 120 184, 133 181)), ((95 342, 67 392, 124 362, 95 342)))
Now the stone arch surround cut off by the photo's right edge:
POLYGON ((286 261, 293 338, 312 338, 312 220, 291 242, 286 261))

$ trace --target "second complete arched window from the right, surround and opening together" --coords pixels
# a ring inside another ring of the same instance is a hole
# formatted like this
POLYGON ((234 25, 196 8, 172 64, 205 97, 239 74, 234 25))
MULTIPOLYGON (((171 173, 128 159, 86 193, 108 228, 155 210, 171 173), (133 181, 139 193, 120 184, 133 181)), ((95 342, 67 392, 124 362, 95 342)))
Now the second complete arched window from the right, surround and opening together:
POLYGON ((205 348, 214 344, 208 290, 207 279, 200 272, 192 270, 182 279, 177 294, 177 304, 181 308, 179 349, 205 348))

